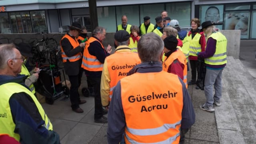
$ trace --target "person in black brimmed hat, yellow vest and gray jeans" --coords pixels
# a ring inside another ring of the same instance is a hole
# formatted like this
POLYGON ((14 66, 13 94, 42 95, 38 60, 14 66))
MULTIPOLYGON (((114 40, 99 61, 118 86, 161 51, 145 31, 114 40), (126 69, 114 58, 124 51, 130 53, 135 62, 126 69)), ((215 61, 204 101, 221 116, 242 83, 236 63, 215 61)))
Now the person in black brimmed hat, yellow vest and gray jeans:
POLYGON ((207 36, 206 50, 205 52, 199 52, 198 57, 205 58, 206 75, 204 80, 204 94, 206 102, 199 107, 202 110, 213 112, 213 104, 216 106, 221 105, 221 77, 222 71, 227 63, 227 39, 221 32, 216 30, 214 23, 211 21, 203 22, 202 30, 207 36))

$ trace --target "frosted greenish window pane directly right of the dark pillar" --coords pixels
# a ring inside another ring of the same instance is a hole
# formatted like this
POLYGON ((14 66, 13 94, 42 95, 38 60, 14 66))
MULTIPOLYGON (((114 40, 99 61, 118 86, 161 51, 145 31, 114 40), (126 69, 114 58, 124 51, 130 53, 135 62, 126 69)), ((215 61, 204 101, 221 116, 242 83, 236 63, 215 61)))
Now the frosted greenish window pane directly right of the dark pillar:
POLYGON ((98 25, 106 28, 106 32, 116 32, 116 14, 115 7, 97 8, 98 25))

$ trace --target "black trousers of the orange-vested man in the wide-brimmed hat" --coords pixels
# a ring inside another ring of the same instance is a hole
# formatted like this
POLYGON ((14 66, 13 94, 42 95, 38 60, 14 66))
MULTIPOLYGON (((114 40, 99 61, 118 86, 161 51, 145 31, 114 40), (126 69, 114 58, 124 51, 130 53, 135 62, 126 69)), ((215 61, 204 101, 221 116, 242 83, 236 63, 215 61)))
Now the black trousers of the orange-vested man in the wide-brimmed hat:
POLYGON ((78 93, 78 88, 81 85, 82 72, 83 70, 80 69, 78 75, 68 76, 70 81, 70 102, 71 102, 71 108, 73 110, 79 108, 80 96, 78 93))

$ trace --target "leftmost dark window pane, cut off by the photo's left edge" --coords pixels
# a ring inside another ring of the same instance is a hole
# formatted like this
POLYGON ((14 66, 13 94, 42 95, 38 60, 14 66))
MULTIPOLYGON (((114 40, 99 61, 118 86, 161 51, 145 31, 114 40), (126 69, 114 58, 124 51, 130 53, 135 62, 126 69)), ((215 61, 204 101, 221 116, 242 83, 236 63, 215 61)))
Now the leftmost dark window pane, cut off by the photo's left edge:
POLYGON ((0 13, 0 32, 2 34, 12 33, 8 13, 0 13))

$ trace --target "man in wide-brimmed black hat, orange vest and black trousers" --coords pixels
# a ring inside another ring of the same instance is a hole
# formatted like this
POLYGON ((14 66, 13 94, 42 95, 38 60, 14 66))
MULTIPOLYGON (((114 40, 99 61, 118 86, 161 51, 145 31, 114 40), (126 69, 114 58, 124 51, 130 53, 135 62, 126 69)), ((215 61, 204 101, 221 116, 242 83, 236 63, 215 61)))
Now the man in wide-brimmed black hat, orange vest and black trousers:
POLYGON ((70 32, 65 34, 60 40, 60 48, 62 52, 62 61, 64 63, 64 69, 70 80, 70 102, 71 108, 74 112, 83 113, 79 104, 86 103, 86 100, 80 100, 78 88, 81 84, 82 77, 82 51, 84 50, 85 43, 79 44, 77 36, 81 32, 81 25, 77 22, 73 22, 69 26, 70 32))

